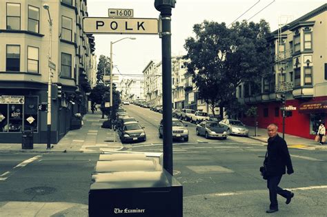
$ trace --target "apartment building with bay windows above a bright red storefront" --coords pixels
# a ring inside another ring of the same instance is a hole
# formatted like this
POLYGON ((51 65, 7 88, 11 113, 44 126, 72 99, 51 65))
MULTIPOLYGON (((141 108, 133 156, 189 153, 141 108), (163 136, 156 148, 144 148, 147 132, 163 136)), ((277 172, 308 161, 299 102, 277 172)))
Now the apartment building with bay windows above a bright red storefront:
POLYGON ((270 45, 273 71, 261 84, 239 86, 239 101, 257 106, 259 127, 281 129, 286 97, 286 134, 313 138, 327 121, 327 4, 275 30, 270 45))

